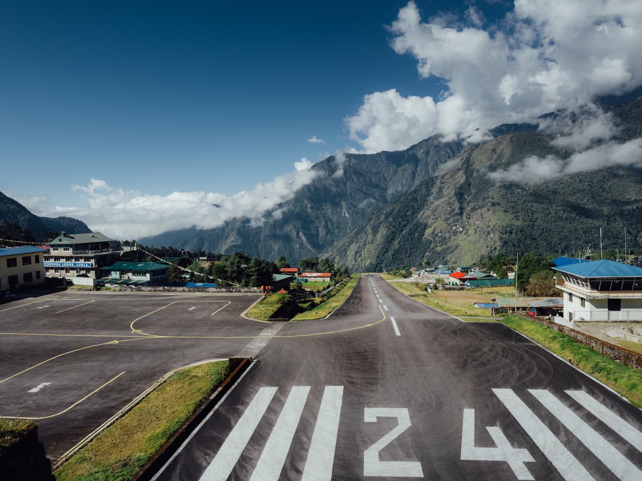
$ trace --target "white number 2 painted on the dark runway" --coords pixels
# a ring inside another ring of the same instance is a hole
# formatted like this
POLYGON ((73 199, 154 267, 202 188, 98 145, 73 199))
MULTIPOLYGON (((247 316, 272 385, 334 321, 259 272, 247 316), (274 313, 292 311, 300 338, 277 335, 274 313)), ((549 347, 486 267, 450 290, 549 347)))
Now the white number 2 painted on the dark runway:
POLYGON ((424 471, 419 461, 380 461, 379 451, 383 450, 399 434, 410 427, 410 414, 406 408, 365 408, 363 421, 376 423, 377 418, 397 418, 397 426, 372 444, 363 453, 363 476, 394 476, 405 478, 422 478, 424 471))

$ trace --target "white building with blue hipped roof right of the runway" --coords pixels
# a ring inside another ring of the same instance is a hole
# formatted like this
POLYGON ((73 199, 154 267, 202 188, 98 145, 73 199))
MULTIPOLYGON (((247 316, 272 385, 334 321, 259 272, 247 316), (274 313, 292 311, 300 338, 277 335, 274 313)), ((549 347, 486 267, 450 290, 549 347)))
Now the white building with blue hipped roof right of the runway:
POLYGON ((642 269, 612 260, 553 267, 564 321, 641 321, 642 269))

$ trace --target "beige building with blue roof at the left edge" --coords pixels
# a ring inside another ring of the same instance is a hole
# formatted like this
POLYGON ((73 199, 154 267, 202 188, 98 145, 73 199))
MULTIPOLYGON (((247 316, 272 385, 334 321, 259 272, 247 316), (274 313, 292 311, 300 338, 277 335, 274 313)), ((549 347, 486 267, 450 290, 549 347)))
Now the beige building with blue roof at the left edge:
POLYGON ((46 249, 36 246, 0 249, 0 291, 43 283, 42 261, 46 253, 46 249))

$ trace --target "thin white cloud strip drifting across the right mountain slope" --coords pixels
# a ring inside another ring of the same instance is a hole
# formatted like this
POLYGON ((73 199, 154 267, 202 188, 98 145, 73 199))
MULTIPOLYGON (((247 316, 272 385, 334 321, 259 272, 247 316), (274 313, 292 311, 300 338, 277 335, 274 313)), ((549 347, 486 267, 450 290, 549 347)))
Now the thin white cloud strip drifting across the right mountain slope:
POLYGON ((544 158, 530 156, 505 170, 489 173, 494 181, 535 184, 560 176, 596 171, 614 166, 642 167, 642 139, 629 142, 609 142, 601 146, 576 152, 562 160, 553 155, 544 158))

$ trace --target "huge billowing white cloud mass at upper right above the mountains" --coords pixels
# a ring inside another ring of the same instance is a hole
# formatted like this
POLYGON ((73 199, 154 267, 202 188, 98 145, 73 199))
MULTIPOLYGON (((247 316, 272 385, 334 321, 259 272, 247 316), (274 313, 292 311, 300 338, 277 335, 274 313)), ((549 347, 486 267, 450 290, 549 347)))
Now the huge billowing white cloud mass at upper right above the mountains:
POLYGON ((478 128, 534 121, 642 83, 638 1, 516 0, 505 19, 485 28, 479 13, 471 6, 462 26, 443 15, 424 22, 412 1, 399 11, 392 48, 447 90, 437 100, 395 89, 364 96, 345 119, 364 151, 405 149, 437 133, 474 142, 478 128))

